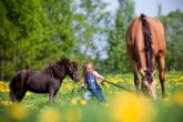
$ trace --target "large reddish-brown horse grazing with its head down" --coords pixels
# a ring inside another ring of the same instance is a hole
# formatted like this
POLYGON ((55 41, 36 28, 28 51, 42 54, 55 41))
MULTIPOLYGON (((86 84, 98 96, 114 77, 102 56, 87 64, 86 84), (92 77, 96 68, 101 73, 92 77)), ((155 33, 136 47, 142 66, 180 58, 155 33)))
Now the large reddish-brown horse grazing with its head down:
POLYGON ((142 77, 141 90, 143 92, 146 91, 150 96, 156 98, 154 72, 155 61, 157 61, 160 70, 159 79, 162 95, 164 96, 164 57, 166 44, 162 23, 157 19, 149 18, 144 14, 135 18, 128 29, 126 47, 136 90, 140 90, 139 71, 142 77))

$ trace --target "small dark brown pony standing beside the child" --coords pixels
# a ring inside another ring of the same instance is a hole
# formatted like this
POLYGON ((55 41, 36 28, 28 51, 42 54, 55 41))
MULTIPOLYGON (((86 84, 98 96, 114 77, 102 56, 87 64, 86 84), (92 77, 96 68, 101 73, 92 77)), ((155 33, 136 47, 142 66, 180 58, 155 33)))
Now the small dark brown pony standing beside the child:
POLYGON ((67 74, 74 82, 79 81, 78 64, 69 59, 61 59, 42 71, 18 71, 10 82, 10 100, 20 102, 27 91, 32 91, 49 93, 49 99, 52 102, 67 74))

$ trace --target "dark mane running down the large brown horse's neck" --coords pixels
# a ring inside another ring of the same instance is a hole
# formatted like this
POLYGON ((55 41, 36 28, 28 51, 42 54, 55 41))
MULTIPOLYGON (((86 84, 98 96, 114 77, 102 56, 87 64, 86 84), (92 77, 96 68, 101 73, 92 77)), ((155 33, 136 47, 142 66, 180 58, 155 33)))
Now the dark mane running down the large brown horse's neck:
POLYGON ((151 65, 151 60, 153 57, 153 51, 152 51, 152 34, 151 34, 151 30, 150 30, 150 23, 148 22, 148 20, 145 19, 146 16, 141 14, 140 19, 142 21, 142 31, 143 31, 143 37, 144 37, 144 43, 145 43, 145 57, 146 57, 146 71, 145 71, 145 75, 149 82, 153 81, 153 78, 151 75, 151 71, 152 71, 152 65, 151 65))

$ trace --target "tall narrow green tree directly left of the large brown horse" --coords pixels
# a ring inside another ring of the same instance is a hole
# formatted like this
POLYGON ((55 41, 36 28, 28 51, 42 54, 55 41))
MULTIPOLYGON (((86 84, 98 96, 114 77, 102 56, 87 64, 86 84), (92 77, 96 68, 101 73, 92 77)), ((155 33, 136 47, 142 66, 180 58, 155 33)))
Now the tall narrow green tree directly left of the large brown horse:
POLYGON ((132 0, 119 0, 115 13, 115 23, 109 34, 108 63, 113 72, 128 71, 129 58, 125 47, 126 29, 134 18, 134 2, 132 0))

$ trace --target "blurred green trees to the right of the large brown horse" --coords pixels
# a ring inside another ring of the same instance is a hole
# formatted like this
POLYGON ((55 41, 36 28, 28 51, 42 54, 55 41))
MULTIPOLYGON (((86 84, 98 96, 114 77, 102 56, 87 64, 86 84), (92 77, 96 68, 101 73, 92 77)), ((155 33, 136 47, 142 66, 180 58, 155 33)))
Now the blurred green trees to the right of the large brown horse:
POLYGON ((160 17, 164 24, 166 35, 166 69, 183 70, 183 12, 180 10, 160 17))

